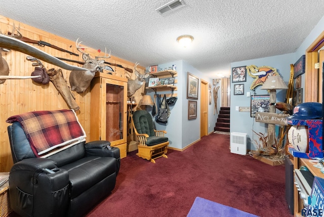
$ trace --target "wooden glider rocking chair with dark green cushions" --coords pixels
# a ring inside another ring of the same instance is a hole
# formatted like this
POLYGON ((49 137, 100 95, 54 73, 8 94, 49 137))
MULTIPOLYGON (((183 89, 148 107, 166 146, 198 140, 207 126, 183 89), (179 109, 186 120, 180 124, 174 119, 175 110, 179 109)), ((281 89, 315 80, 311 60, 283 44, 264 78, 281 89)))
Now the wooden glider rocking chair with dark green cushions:
POLYGON ((137 156, 155 163, 156 158, 168 158, 169 139, 165 130, 155 130, 152 116, 145 110, 134 112, 132 117, 134 132, 138 137, 137 156))

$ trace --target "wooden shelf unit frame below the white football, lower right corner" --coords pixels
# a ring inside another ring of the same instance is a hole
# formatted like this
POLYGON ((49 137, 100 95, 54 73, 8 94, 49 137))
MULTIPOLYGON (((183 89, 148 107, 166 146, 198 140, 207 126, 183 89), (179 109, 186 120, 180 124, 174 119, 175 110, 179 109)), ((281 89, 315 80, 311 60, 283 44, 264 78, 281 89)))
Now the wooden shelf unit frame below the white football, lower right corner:
MULTIPOLYGON (((306 158, 296 158, 294 157, 294 170, 299 169, 301 166, 306 166, 308 170, 314 175, 321 178, 324 178, 324 174, 320 172, 320 169, 317 167, 314 167, 316 163, 310 162, 312 159, 306 159, 306 158)), ((295 180, 294 180, 295 182, 295 180)), ((299 197, 299 192, 296 188, 296 185, 294 185, 294 216, 302 216, 301 215, 301 209, 303 208, 303 202, 301 201, 299 197)))

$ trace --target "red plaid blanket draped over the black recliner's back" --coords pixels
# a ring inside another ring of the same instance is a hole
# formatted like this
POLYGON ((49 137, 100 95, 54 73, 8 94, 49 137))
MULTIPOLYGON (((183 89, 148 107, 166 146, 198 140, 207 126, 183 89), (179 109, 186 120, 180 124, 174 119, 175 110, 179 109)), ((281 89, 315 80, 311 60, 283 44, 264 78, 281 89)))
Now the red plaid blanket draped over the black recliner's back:
POLYGON ((21 124, 36 157, 48 157, 86 140, 73 110, 28 112, 6 120, 15 121, 21 124))

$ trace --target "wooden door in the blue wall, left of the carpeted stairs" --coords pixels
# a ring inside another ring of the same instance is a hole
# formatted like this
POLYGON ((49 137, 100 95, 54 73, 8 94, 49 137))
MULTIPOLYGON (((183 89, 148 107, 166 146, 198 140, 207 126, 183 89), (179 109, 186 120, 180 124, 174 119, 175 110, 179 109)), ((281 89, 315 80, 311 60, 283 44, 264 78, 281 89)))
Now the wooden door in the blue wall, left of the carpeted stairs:
POLYGON ((208 135, 208 82, 200 84, 200 138, 208 135))

